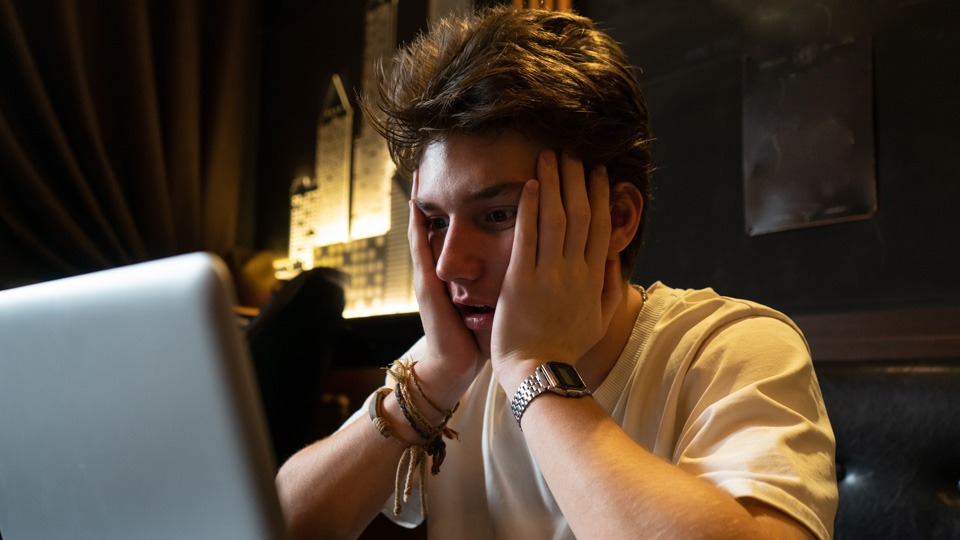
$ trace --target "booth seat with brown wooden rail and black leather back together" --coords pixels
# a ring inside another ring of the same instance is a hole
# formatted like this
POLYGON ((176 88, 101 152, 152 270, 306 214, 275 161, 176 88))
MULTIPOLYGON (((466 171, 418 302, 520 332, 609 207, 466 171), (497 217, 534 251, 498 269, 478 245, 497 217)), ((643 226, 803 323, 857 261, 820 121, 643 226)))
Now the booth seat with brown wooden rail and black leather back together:
POLYGON ((960 306, 794 321, 837 437, 834 538, 960 539, 960 306))

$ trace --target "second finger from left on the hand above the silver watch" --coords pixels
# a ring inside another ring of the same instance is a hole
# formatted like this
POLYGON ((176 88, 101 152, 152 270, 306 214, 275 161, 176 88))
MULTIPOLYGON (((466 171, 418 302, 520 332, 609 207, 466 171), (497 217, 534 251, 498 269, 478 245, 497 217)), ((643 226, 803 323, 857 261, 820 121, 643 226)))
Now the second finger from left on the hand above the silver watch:
POLYGON ((537 265, 554 265, 563 255, 563 236, 566 216, 560 195, 560 171, 557 154, 544 150, 537 160, 537 180, 540 185, 540 205, 537 230, 537 265))

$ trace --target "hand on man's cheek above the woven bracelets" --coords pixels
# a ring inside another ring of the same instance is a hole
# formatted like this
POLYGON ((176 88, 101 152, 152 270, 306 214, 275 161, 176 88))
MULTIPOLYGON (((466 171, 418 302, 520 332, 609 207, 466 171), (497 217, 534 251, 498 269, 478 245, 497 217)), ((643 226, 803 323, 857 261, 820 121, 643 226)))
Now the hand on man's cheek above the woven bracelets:
POLYGON ((413 257, 413 285, 427 340, 427 354, 422 365, 418 365, 417 373, 431 369, 443 376, 447 386, 458 379, 469 384, 486 359, 450 300, 446 284, 437 277, 437 265, 427 237, 427 219, 414 203, 418 177, 419 174, 414 173, 407 228, 413 257))

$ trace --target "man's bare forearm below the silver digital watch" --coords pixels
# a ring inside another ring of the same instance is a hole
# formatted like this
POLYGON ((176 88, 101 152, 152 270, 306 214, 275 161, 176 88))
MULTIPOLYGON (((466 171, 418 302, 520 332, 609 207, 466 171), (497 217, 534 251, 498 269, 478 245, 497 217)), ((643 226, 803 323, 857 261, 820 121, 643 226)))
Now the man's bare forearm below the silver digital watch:
POLYGON ((544 394, 523 431, 577 538, 809 538, 647 452, 592 398, 544 394))

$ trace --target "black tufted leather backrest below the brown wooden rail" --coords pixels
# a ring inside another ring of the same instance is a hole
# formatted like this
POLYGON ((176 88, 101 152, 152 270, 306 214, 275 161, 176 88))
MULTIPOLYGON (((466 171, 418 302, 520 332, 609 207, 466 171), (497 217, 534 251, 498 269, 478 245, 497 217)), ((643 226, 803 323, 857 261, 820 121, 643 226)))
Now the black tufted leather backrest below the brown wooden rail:
POLYGON ((837 437, 836 540, 960 539, 960 362, 817 365, 837 437))

